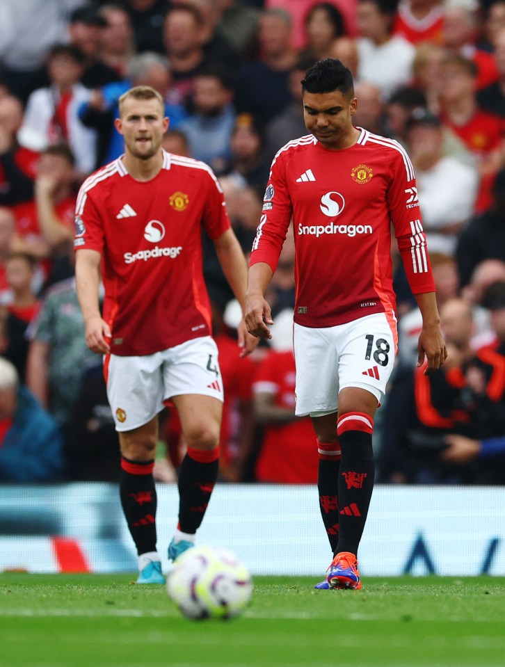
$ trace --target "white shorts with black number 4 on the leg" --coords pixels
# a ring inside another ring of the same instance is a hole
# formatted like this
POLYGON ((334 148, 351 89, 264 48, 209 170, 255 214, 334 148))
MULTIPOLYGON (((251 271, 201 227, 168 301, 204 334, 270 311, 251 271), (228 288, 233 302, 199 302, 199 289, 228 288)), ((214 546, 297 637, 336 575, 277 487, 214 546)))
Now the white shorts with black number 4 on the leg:
POLYGON ((116 431, 131 431, 163 410, 179 394, 203 394, 223 401, 218 348, 206 336, 141 357, 105 357, 107 397, 116 431))

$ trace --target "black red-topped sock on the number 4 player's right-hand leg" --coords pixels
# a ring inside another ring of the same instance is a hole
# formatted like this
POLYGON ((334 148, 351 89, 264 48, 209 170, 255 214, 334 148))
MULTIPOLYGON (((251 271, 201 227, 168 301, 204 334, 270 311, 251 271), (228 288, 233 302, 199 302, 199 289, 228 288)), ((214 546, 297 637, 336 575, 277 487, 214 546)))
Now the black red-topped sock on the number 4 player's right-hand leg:
POLYGON ((202 523, 218 479, 219 448, 188 448, 179 471, 179 530, 195 533, 202 523))

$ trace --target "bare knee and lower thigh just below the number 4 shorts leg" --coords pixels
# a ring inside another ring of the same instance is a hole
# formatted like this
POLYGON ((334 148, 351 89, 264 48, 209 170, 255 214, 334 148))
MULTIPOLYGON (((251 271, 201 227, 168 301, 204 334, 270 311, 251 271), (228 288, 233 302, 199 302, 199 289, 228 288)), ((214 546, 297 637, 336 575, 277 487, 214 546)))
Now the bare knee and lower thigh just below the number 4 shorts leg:
POLYGON ((180 394, 172 401, 179 414, 182 435, 188 447, 214 449, 219 444, 223 403, 214 396, 180 394))

